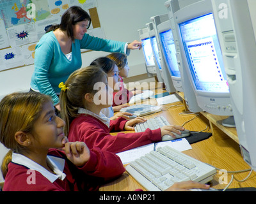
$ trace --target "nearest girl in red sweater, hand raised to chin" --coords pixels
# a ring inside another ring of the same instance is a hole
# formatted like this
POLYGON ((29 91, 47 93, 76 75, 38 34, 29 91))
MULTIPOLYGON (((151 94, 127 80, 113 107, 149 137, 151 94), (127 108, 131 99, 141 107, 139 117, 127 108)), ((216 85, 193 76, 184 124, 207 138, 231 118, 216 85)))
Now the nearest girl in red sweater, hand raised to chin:
POLYGON ((49 96, 13 93, 0 102, 0 142, 10 149, 3 191, 92 191, 122 175, 118 156, 68 142, 49 96), (59 150, 61 149, 61 150, 59 150))

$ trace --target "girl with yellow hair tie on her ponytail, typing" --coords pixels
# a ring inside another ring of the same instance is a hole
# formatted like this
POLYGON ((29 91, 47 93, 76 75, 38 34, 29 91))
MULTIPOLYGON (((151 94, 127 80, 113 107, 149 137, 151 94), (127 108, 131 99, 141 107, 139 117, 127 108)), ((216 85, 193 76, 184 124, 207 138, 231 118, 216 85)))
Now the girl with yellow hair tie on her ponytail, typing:
POLYGON ((164 135, 174 136, 173 133, 181 134, 180 130, 184 130, 181 126, 172 125, 155 130, 146 129, 143 133, 110 135, 111 131, 134 130, 134 124, 145 122, 145 119, 137 117, 125 120, 119 117, 109 121, 100 114, 102 108, 111 106, 99 101, 99 98, 106 98, 107 101, 113 98, 113 93, 109 93, 108 89, 106 73, 98 67, 77 69, 68 77, 60 92, 60 105, 69 141, 85 142, 89 149, 99 147, 101 150, 117 153, 159 142, 164 135), (95 84, 101 84, 100 91, 95 89, 95 84))

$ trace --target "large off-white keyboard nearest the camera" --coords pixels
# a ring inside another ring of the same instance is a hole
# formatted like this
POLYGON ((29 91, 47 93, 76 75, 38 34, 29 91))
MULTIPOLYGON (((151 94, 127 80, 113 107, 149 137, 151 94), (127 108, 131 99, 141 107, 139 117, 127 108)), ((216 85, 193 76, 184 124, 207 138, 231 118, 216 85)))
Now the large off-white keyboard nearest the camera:
POLYGON ((164 191, 175 182, 207 183, 216 169, 171 147, 159 147, 126 166, 127 172, 148 191, 164 191))

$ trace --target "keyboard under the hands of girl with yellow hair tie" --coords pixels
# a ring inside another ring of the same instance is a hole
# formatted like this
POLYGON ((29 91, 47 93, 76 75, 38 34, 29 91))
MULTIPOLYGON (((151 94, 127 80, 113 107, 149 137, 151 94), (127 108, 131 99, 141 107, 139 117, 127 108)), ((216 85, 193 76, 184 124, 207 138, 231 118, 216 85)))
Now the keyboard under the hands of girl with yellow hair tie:
MULTIPOLYGON (((144 132, 147 128, 149 129, 157 129, 157 128, 162 128, 163 126, 170 126, 169 122, 163 117, 154 117, 152 119, 148 119, 146 122, 136 124, 134 126, 134 130, 136 133, 144 132)), ((186 136, 191 135, 190 131, 186 129, 185 131, 180 131, 181 135, 177 133, 173 133, 175 137, 172 137, 170 135, 164 135, 162 137, 163 141, 166 140, 176 140, 177 138, 184 138, 186 136)))

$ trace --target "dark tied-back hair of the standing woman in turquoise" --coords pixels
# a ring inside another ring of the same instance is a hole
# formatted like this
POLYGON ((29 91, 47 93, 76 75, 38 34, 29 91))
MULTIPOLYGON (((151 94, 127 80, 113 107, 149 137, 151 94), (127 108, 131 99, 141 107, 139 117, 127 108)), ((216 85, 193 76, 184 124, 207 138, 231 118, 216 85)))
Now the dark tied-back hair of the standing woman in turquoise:
POLYGON ((79 6, 71 6, 67 11, 65 11, 65 13, 63 13, 60 25, 51 25, 51 27, 47 29, 46 33, 60 28, 61 31, 66 31, 68 38, 71 38, 72 41, 74 41, 72 25, 76 25, 77 22, 81 22, 83 20, 88 20, 87 28, 89 28, 91 24, 90 15, 79 6))

